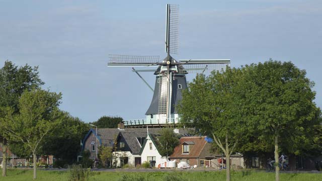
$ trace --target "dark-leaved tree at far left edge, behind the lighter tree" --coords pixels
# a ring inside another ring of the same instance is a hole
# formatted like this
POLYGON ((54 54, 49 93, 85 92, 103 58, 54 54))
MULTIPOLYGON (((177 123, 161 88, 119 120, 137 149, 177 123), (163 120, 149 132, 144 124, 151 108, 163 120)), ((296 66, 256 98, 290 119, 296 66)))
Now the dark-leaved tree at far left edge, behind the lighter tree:
MULTIPOLYGON (((38 67, 30 67, 25 65, 18 67, 11 61, 6 61, 3 68, 0 69, 0 109, 4 107, 12 107, 14 113, 18 113, 19 97, 25 90, 39 88, 44 82, 38 75, 38 67)), ((0 118, 4 117, 4 111, 0 111, 0 118)), ((9 141, 3 136, 0 130, 0 144, 3 147, 3 165, 7 165, 7 152, 9 141)), ((7 175, 7 167, 2 169, 2 175, 7 175)))

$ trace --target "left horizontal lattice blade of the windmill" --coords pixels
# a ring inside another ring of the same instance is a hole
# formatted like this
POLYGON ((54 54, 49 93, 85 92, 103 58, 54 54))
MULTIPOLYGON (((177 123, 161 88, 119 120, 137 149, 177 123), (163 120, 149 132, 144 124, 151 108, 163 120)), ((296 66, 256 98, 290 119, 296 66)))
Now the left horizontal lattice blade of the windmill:
POLYGON ((157 66, 159 56, 109 55, 108 66, 157 66))

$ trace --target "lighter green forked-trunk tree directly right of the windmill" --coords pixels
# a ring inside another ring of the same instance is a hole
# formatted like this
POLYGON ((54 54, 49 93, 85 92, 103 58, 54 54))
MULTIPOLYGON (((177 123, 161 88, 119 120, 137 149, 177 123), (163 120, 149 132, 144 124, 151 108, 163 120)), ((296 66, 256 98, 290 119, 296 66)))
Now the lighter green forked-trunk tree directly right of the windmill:
POLYGON ((229 67, 224 72, 213 71, 209 77, 197 75, 183 92, 178 108, 181 124, 212 137, 225 154, 227 180, 230 180, 230 155, 246 131, 236 94, 241 75, 241 69, 229 67))

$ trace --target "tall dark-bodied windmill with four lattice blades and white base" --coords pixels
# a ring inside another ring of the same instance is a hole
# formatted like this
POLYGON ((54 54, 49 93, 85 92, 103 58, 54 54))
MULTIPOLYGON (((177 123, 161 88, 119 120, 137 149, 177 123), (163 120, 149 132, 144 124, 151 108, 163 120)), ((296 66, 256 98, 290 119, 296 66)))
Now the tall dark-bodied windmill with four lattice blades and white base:
POLYGON ((145 115, 146 119, 124 120, 126 126, 168 125, 178 123, 176 106, 181 100, 182 89, 187 88, 186 74, 192 72, 225 69, 230 60, 175 60, 171 54, 179 53, 179 5, 167 4, 166 41, 167 57, 162 61, 159 56, 109 55, 109 67, 132 67, 144 83, 153 91, 153 97, 145 115), (134 67, 154 69, 136 70, 134 67), (156 68, 156 69, 155 69, 156 68), (154 90, 138 72, 154 72, 154 90))

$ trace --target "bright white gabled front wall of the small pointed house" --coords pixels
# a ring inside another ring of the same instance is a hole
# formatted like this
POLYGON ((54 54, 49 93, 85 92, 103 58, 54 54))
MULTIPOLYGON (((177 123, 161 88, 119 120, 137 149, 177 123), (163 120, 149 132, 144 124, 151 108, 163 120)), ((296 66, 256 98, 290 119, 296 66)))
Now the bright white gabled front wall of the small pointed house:
POLYGON ((149 136, 146 137, 146 144, 141 153, 141 163, 147 161, 148 156, 155 156, 155 167, 161 163, 162 159, 166 159, 166 157, 162 157, 157 151, 155 145, 153 144, 151 138, 149 136), (152 150, 150 150, 150 143, 152 143, 152 150))

